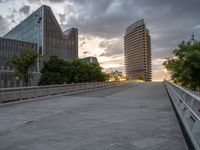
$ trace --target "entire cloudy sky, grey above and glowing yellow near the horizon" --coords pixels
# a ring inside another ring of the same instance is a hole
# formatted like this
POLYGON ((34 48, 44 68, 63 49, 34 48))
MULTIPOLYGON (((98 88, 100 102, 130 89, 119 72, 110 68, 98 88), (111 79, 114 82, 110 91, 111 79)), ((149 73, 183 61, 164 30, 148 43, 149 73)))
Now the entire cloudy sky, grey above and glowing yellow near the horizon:
POLYGON ((0 0, 0 36, 42 4, 52 8, 62 30, 79 29, 79 56, 96 56, 108 71, 124 71, 125 29, 144 18, 152 40, 153 79, 162 62, 191 34, 200 39, 200 0, 0 0))

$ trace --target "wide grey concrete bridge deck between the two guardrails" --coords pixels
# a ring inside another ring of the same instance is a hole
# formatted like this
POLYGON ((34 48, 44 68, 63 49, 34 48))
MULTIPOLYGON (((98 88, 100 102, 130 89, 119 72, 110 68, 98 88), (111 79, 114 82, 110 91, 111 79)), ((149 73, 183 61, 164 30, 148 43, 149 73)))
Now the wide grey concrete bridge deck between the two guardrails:
POLYGON ((187 150, 163 83, 0 107, 1 150, 187 150))

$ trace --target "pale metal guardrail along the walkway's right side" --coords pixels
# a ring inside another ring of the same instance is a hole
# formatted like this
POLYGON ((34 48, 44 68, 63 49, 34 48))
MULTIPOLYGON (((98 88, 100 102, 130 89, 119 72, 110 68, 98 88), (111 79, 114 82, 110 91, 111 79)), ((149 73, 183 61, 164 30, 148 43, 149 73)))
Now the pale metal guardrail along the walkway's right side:
POLYGON ((164 83, 194 148, 200 150, 200 97, 174 83, 164 83))

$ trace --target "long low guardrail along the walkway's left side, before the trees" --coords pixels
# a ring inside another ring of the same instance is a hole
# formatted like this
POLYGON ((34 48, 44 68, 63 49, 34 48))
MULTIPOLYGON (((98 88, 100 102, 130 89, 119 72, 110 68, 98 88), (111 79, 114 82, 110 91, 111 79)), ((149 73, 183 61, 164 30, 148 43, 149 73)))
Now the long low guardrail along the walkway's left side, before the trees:
POLYGON ((121 86, 127 82, 91 82, 0 89, 0 103, 39 99, 56 95, 70 95, 104 87, 121 86))

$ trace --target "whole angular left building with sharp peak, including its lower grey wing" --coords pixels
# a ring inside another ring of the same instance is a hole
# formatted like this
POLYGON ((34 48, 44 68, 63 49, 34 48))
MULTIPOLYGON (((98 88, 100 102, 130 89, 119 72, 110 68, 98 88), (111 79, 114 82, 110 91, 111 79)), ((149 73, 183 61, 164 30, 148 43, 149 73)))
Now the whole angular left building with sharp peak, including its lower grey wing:
POLYGON ((51 56, 64 60, 78 59, 78 29, 70 28, 63 32, 48 6, 43 5, 33 12, 0 38, 0 88, 24 85, 22 81, 15 81, 15 71, 7 62, 26 49, 39 54, 37 65, 31 72, 31 85, 37 85, 43 62, 51 56))

